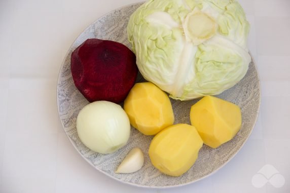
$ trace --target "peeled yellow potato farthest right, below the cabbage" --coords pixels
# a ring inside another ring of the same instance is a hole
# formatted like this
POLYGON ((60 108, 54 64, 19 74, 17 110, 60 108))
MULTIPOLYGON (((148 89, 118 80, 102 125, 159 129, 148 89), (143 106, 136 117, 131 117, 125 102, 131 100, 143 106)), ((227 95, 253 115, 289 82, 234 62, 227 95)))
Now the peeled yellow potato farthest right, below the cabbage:
POLYGON ((203 142, 216 148, 237 134, 242 115, 239 106, 213 96, 205 96, 191 107, 190 121, 203 142))

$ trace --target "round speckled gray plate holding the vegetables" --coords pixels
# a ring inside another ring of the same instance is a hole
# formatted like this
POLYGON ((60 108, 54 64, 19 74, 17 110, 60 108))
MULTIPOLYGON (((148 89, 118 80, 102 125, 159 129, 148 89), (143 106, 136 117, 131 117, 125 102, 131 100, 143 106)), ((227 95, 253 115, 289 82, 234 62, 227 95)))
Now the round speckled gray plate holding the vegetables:
MULTIPOLYGON (((245 77, 233 88, 223 92, 218 97, 231 101, 241 107, 242 127, 231 141, 217 149, 203 145, 194 166, 180 177, 171 177, 161 174, 153 167, 148 156, 148 148, 152 136, 145 136, 136 129, 131 128, 128 144, 115 153, 102 155, 88 149, 79 139, 76 129, 76 119, 79 111, 88 104, 88 101, 76 89, 70 73, 70 55, 87 38, 100 38, 113 40, 125 44, 127 41, 126 27, 130 15, 141 5, 132 4, 114 10, 91 24, 84 30, 70 47, 60 69, 57 83, 57 105, 63 129, 71 143, 81 156, 98 171, 125 183, 142 186, 165 188, 180 186, 195 182, 209 176, 225 166, 241 149, 255 126, 260 107, 260 81, 255 63, 251 61, 245 77), (115 174, 116 167, 121 163, 128 151, 139 147, 144 152, 144 166, 132 174, 115 174)), ((138 82, 143 79, 139 75, 138 82)), ((175 124, 190 124, 190 107, 197 100, 176 101, 171 99, 175 124)))

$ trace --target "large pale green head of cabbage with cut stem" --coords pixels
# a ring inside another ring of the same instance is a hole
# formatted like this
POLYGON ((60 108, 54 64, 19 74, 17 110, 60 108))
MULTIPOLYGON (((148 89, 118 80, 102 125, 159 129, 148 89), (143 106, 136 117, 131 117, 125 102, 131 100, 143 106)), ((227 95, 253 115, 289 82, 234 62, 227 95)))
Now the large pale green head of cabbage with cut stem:
POLYGON ((222 93, 251 60, 249 23, 235 0, 150 0, 127 32, 142 76, 174 99, 222 93))

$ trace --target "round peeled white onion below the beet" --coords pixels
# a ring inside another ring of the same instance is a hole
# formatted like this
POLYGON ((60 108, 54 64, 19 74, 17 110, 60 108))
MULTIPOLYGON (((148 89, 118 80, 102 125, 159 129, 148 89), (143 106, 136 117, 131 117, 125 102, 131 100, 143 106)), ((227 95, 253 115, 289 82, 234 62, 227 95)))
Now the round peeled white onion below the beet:
POLYGON ((130 122, 120 105, 96 101, 79 112, 77 131, 81 141, 91 150, 112 153, 126 145, 130 122))

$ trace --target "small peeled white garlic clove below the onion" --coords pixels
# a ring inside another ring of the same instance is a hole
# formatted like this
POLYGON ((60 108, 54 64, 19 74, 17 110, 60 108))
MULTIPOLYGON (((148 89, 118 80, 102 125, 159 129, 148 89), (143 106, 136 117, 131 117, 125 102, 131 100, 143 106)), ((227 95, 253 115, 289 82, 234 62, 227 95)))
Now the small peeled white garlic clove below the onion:
POLYGON ((144 155, 140 148, 134 147, 129 151, 122 163, 119 165, 116 173, 128 174, 141 169, 144 164, 144 155))

